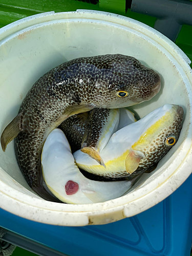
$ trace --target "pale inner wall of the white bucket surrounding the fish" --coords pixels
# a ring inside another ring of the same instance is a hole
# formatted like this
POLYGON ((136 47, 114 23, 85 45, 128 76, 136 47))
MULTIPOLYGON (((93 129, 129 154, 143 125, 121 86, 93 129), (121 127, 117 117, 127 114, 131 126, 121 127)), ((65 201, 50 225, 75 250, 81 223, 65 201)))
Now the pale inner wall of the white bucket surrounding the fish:
MULTIPOLYGON (((140 181, 142 186, 150 183, 174 161, 187 137, 190 101, 186 84, 189 81, 177 59, 158 41, 129 26, 96 19, 59 19, 16 31, 1 40, 1 133, 17 115, 24 97, 40 76, 73 58, 114 53, 134 56, 161 75, 162 88, 158 95, 131 107, 140 118, 163 104, 179 104, 184 109, 179 141, 159 162, 156 170, 144 175, 140 181)), ((0 150, 0 159, 1 179, 9 186, 33 195, 17 165, 13 141, 5 153, 0 150)))

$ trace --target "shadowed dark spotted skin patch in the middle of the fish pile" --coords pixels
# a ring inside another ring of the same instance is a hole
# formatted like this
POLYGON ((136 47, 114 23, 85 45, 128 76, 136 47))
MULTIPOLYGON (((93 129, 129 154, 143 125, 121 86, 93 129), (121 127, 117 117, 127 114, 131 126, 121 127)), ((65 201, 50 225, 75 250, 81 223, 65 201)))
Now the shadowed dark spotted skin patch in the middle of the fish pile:
POLYGON ((82 138, 88 125, 89 114, 90 111, 73 115, 58 126, 65 133, 72 153, 81 148, 82 138))

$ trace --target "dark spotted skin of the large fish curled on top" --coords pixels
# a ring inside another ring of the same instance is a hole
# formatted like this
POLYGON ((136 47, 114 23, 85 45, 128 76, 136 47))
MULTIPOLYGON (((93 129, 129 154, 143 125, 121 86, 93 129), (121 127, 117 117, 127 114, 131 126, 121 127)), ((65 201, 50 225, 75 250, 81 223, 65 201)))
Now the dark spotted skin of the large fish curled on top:
POLYGON ((160 76, 134 57, 121 54, 83 57, 62 63, 40 77, 20 106, 15 139, 18 165, 42 198, 41 150, 48 134, 69 116, 95 107, 120 108, 151 99, 160 76), (118 91, 129 95, 120 98, 118 91))

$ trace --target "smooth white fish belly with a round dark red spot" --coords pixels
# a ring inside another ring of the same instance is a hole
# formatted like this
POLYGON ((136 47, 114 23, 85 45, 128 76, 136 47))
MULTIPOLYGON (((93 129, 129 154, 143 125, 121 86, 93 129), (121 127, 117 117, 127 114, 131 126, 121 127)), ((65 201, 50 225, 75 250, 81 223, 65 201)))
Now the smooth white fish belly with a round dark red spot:
POLYGON ((130 181, 93 181, 84 177, 75 164, 65 134, 52 131, 41 154, 42 173, 50 191, 62 202, 89 204, 115 199, 126 193, 137 178, 130 181))

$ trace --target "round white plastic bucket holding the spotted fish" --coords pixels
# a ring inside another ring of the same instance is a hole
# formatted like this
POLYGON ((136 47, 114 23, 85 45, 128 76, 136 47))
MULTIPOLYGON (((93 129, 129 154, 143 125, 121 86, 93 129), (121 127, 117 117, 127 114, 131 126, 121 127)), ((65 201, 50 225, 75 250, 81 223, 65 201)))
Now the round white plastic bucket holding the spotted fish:
POLYGON ((42 13, 0 29, 1 133, 17 115, 33 83, 62 62, 81 56, 109 53, 131 55, 159 72, 162 89, 152 100, 133 106, 140 117, 166 103, 184 108, 177 144, 151 174, 144 174, 131 193, 87 205, 45 201, 33 193, 16 162, 13 142, 0 149, 0 207, 37 222, 82 226, 105 224, 159 203, 190 175, 191 69, 190 60, 169 39, 136 20, 116 14, 77 10, 42 13))

